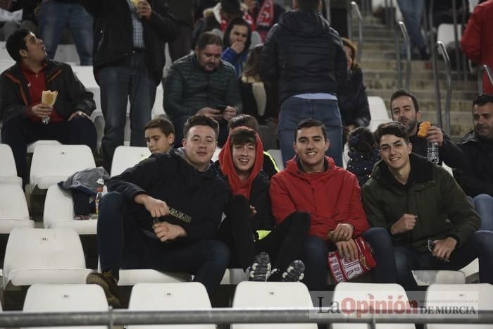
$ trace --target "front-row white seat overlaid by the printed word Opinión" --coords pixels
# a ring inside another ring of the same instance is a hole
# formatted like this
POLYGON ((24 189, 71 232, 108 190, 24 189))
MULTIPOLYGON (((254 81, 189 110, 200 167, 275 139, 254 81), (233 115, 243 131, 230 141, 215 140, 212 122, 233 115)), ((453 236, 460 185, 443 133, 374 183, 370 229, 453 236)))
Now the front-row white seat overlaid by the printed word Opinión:
MULTIPOLYGON (((339 283, 335 286, 334 294, 332 296, 332 302, 339 303, 339 310, 342 310, 344 313, 344 309, 348 307, 357 307, 358 301, 370 302, 373 301, 375 304, 375 308, 377 307, 377 302, 385 301, 382 303, 387 306, 389 302, 389 296, 392 297, 393 300, 398 300, 399 296, 402 296, 401 301, 407 302, 406 291, 400 285, 394 283, 339 283), (342 303, 344 299, 351 299, 354 303, 342 303)), ((363 303, 361 303, 363 304, 363 303)), ((367 304, 368 305, 368 304, 367 304)), ((382 306, 382 307, 385 307, 382 306)), ((348 310, 349 311, 349 310, 348 310)), ((365 310, 367 311, 367 310, 365 310)), ((370 328, 370 325, 367 323, 332 323, 332 329, 365 329, 370 328)), ((415 329, 413 323, 380 323, 376 325, 377 329, 415 329)))

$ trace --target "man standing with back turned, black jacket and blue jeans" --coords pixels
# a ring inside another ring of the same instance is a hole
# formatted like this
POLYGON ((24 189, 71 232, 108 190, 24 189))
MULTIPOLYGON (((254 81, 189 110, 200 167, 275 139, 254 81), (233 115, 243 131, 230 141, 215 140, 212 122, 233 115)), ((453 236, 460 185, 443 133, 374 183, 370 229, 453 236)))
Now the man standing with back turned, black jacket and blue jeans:
POLYGON ((318 11, 320 0, 294 0, 269 32, 260 62, 262 80, 278 82, 278 135, 282 161, 294 156, 297 123, 322 121, 331 147, 327 154, 342 166, 342 120, 337 93, 346 82, 347 60, 341 39, 318 11))

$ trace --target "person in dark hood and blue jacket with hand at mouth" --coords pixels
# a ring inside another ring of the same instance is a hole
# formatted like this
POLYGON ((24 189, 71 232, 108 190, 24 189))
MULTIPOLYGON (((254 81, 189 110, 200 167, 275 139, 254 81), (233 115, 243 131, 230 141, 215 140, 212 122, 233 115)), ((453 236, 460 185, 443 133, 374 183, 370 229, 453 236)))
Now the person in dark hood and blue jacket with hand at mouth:
POLYGON ((246 57, 249 54, 251 27, 243 18, 234 18, 227 25, 223 37, 223 54, 221 59, 235 66, 237 75, 243 72, 246 57))

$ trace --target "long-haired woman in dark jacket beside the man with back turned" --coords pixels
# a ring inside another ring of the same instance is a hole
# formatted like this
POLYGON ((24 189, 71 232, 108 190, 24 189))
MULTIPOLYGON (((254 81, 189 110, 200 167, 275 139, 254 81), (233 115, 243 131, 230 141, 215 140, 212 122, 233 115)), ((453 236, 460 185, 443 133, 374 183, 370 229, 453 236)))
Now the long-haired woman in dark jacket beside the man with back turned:
POLYGON ((363 72, 356 63, 356 46, 346 38, 341 38, 342 49, 347 58, 347 80, 339 89, 337 100, 344 125, 344 143, 347 135, 358 127, 366 127, 370 123, 370 106, 363 83, 363 72))

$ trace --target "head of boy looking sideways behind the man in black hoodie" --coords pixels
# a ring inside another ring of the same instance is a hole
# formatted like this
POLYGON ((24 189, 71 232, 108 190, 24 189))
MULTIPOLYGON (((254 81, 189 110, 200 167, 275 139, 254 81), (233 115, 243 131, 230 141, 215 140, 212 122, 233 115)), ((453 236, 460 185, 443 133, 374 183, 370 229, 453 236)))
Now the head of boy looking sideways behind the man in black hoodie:
POLYGON ((144 126, 147 148, 152 154, 169 153, 175 142, 175 128, 166 118, 154 118, 144 126))

